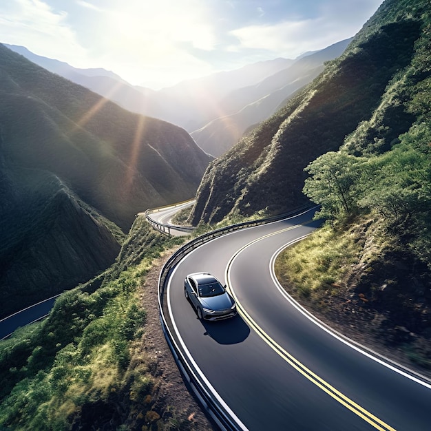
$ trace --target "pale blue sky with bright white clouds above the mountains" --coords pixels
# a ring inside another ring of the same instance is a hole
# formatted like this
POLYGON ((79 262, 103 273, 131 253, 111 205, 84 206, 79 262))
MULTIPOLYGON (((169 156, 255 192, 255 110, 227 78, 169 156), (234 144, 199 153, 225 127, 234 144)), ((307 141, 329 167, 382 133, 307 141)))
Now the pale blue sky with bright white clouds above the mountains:
POLYGON ((158 90, 354 36, 383 0, 3 0, 0 43, 158 90))

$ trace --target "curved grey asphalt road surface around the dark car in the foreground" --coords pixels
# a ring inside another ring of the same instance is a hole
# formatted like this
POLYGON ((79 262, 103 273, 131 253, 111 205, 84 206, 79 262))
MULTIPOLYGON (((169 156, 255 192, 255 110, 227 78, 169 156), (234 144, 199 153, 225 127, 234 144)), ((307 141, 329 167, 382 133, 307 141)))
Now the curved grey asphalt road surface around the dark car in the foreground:
POLYGON ((311 233, 311 217, 235 231, 182 259, 167 301, 183 352, 242 429, 430 430, 428 383, 328 333, 271 277, 275 251, 311 233), (196 271, 226 280, 238 317, 197 319, 183 293, 185 275, 196 271))

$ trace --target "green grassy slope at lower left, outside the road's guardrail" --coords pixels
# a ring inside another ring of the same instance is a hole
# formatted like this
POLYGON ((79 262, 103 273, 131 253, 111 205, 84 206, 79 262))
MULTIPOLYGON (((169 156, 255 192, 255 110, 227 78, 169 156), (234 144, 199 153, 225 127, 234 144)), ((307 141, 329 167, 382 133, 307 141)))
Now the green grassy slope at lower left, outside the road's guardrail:
POLYGON ((178 239, 141 219, 105 274, 64 293, 48 319, 1 342, 0 428, 70 430, 85 421, 101 426, 109 414, 118 427, 134 423, 124 429, 149 419, 148 429, 163 429, 152 401, 154 359, 140 341, 146 313, 139 288, 154 258, 178 239))

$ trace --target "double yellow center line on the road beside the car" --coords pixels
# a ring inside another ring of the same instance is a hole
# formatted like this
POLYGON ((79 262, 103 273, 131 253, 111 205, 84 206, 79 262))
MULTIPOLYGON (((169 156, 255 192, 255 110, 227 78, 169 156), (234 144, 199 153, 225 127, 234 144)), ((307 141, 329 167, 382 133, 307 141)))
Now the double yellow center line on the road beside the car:
POLYGON ((253 240, 249 242, 249 244, 246 244, 243 246, 240 250, 233 255, 231 260, 229 261, 229 264, 227 265, 227 284, 229 291, 235 298, 235 302, 238 307, 238 311, 240 312, 240 315, 242 318, 255 330, 255 333, 259 335, 265 342, 268 344, 284 361, 286 361, 290 366, 295 368, 300 374, 302 374, 306 379, 314 383, 318 388, 322 389, 324 392, 326 392, 330 397, 333 397, 336 401, 341 403, 341 405, 348 408, 350 411, 357 414, 361 419, 364 419, 364 421, 370 423, 374 428, 380 431, 396 431, 395 428, 392 428, 387 423, 381 421, 378 417, 376 417, 374 414, 368 412, 365 408, 359 406, 359 404, 355 403, 355 401, 351 400, 350 398, 346 397, 343 393, 339 392, 339 390, 335 389, 333 386, 331 386, 328 382, 324 381, 321 377, 315 374, 315 372, 311 371, 309 368, 304 366, 301 362, 299 362, 295 357, 293 357, 290 353, 288 353, 280 344, 277 344, 277 342, 272 339, 267 333, 264 332, 264 330, 253 320, 251 315, 247 313, 244 306, 240 303, 238 300, 238 297, 235 295, 235 292, 233 291, 233 288, 231 287, 231 280, 230 280, 230 269, 231 265, 233 263, 233 260, 235 260, 235 257, 237 257, 244 249, 246 249, 248 246, 251 246, 251 244, 254 244, 255 242, 259 242, 260 240, 263 240, 264 238, 269 238, 273 235, 277 235, 279 233, 289 231, 291 229, 295 229, 297 227, 303 226, 304 224, 310 223, 310 221, 305 222, 303 224, 297 224, 295 226, 291 226, 285 229, 281 229, 280 231, 269 233, 267 235, 262 236, 261 238, 258 238, 257 240, 253 240))

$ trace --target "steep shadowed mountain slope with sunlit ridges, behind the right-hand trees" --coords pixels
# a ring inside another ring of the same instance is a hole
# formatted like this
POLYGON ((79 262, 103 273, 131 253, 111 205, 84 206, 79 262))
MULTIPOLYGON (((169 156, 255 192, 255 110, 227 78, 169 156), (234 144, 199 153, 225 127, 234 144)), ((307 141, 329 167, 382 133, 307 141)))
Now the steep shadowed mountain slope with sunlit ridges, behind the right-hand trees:
MULTIPOLYGON (((211 163, 198 190, 193 223, 217 222, 229 213, 277 213, 306 202, 304 168, 338 149, 370 118, 388 83, 412 61, 425 6, 421 1, 406 5, 408 12, 403 9, 398 17, 392 6, 383 3, 339 59, 211 163)), ((399 133, 412 124, 412 118, 403 118, 399 133)))

